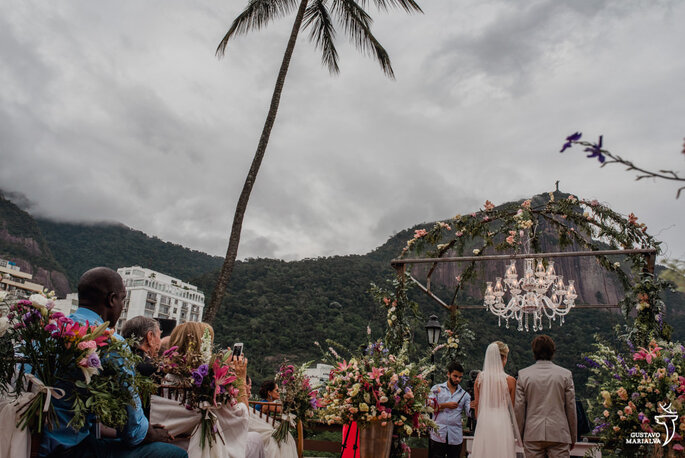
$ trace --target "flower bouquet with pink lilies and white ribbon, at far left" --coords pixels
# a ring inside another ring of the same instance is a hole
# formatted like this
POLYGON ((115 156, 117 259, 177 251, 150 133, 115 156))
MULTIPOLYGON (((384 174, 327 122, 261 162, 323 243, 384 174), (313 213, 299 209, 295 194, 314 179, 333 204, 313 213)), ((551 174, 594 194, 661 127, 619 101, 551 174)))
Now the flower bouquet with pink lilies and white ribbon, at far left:
POLYGON ((107 322, 80 324, 53 307, 51 295, 34 294, 9 304, 0 317, 0 391, 16 405, 17 426, 36 433, 63 426, 51 400, 66 396, 73 400, 70 428, 81 429, 90 415, 124 427, 126 406, 143 383, 133 370, 136 357, 107 322), (121 371, 121 364, 130 371, 121 371))

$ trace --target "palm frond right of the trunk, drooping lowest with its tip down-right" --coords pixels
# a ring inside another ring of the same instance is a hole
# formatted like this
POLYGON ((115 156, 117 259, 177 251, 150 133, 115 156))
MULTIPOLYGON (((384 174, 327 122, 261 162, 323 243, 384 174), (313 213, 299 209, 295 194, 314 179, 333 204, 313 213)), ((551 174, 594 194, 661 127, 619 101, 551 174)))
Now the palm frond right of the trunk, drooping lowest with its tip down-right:
POLYGON ((354 0, 333 0, 332 9, 354 46, 362 53, 374 57, 383 73, 394 79, 390 56, 371 33, 371 16, 354 0))

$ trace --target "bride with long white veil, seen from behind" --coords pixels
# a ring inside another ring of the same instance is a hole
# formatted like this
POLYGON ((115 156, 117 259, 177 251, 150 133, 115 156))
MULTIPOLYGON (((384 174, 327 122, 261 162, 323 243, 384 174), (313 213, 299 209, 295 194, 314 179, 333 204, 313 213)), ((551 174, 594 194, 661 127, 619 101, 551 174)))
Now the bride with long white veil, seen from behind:
POLYGON ((478 423, 472 457, 512 458, 521 444, 513 409, 516 380, 504 372, 508 354, 509 347, 502 342, 491 343, 485 352, 474 387, 478 423))

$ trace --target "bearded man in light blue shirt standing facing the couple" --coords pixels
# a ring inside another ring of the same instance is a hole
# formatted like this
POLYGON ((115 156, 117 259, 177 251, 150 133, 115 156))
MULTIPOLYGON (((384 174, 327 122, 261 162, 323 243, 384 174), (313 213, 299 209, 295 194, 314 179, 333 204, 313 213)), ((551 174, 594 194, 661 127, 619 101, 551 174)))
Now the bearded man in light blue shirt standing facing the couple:
POLYGON ((447 381, 431 388, 433 420, 438 431, 431 432, 430 458, 458 458, 463 442, 462 416, 468 415, 471 396, 459 386, 464 368, 457 362, 447 366, 447 381))

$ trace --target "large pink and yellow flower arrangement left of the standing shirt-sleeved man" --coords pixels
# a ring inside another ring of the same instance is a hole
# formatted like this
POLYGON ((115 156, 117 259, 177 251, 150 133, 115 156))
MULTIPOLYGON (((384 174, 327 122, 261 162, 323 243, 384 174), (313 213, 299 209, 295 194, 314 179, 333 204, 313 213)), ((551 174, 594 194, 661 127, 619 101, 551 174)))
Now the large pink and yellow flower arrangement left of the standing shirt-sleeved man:
POLYGON ((379 421, 391 423, 403 444, 415 433, 435 427, 427 405, 432 367, 410 363, 406 347, 391 354, 381 341, 363 355, 338 360, 322 393, 320 417, 328 424, 357 422, 361 428, 379 421))

